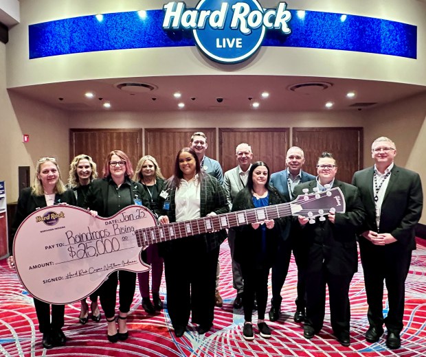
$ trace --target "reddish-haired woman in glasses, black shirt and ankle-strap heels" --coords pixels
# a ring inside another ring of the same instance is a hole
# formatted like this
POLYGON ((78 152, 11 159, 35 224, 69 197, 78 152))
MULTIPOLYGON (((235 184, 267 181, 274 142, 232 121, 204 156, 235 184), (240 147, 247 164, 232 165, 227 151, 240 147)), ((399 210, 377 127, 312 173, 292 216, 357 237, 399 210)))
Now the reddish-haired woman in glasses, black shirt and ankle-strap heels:
MULTIPOLYGON (((131 180, 133 167, 128 156, 121 150, 113 150, 106 157, 104 179, 94 180, 91 183, 85 207, 91 209, 92 214, 101 217, 110 217, 120 209, 129 205, 144 205, 149 207, 144 187, 131 180)), ((127 270, 118 270, 100 286, 100 303, 108 323, 107 336, 110 342, 124 341, 128 338, 127 314, 130 311, 133 295, 135 295, 136 273, 127 270), (119 314, 117 316, 118 330, 115 318, 115 302, 117 285, 120 281, 119 314)))

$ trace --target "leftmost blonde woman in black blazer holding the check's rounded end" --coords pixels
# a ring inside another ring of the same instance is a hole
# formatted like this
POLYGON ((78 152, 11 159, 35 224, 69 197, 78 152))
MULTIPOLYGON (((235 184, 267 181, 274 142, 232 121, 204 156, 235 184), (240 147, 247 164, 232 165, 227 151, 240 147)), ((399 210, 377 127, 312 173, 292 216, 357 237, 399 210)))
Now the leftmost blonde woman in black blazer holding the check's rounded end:
MULTIPOLYGON (((70 189, 67 189, 60 179, 60 171, 56 159, 42 157, 36 164, 36 175, 32 187, 27 187, 19 195, 16 214, 12 222, 12 241, 9 251, 12 251, 14 235, 25 218, 36 209, 67 203, 76 205, 76 197, 70 189)), ((8 262, 14 267, 13 257, 8 262)), ((34 306, 38 319, 38 330, 43 334, 43 347, 50 349, 55 346, 63 346, 67 341, 62 331, 64 325, 64 305, 51 305, 34 299, 34 306), (52 320, 51 320, 52 309, 52 320)))

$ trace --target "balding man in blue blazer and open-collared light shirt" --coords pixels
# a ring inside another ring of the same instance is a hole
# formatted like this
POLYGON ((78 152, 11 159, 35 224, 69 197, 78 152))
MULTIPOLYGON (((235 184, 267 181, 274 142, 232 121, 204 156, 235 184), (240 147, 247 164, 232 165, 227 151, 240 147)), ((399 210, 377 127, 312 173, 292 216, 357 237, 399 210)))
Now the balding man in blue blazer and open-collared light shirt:
MULTIPOLYGON (((270 183, 273 187, 278 189, 280 194, 285 196, 289 201, 293 200, 293 190, 300 183, 308 182, 315 179, 315 176, 302 171, 304 164, 304 152, 298 146, 292 146, 287 150, 286 156, 286 170, 271 174, 270 183)), ((269 320, 277 321, 280 318, 281 307, 281 289, 284 285, 285 278, 289 271, 289 264, 291 259, 291 250, 295 257, 296 264, 298 264, 298 239, 291 232, 283 234, 282 239, 278 244, 278 259, 272 267, 272 300, 271 310, 269 311, 269 320)), ((296 312, 294 314, 295 322, 304 321, 305 317, 305 288, 302 279, 301 269, 298 268, 298 297, 295 301, 296 312)))

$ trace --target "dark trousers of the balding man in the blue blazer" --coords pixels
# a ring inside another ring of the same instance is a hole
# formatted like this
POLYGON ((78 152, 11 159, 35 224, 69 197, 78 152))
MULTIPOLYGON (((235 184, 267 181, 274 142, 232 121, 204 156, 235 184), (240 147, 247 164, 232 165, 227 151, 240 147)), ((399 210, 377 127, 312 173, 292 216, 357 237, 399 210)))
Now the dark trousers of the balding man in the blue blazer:
POLYGON ((304 311, 306 306, 305 301, 305 286, 302 275, 302 268, 298 264, 298 248, 293 243, 293 239, 289 237, 287 240, 280 240, 278 242, 278 251, 276 262, 272 266, 272 305, 280 308, 282 297, 281 290, 284 286, 284 281, 289 272, 289 265, 291 260, 291 251, 295 257, 296 265, 298 266, 298 297, 296 297, 295 304, 298 311, 304 311))

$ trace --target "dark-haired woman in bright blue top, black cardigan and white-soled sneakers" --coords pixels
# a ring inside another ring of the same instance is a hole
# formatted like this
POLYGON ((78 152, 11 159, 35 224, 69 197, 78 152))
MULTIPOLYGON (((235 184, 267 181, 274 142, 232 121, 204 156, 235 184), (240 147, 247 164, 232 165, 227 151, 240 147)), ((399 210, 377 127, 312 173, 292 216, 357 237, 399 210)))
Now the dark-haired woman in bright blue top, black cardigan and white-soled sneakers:
MULTIPOLYGON (((277 205, 286 202, 276 189, 269 186, 269 168, 266 163, 257 161, 251 165, 247 186, 236 196, 232 211, 241 211, 277 205)), ((236 240, 234 260, 240 264, 243 273, 244 292, 244 327, 243 337, 253 340, 251 313, 254 296, 258 302, 258 329, 260 336, 271 337, 271 330, 265 323, 265 310, 268 298, 268 277, 278 248, 278 237, 289 224, 286 218, 262 220, 246 226, 235 228, 236 240)))

